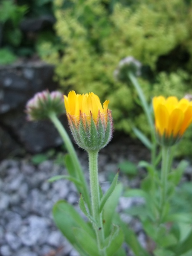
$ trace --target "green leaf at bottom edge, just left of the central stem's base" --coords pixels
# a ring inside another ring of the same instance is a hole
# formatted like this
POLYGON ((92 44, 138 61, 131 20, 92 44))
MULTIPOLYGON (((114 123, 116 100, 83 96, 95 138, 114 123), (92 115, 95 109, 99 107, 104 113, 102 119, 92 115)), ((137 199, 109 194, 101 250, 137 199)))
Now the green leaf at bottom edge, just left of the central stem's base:
POLYGON ((88 255, 91 256, 101 256, 99 253, 96 239, 93 239, 93 237, 89 236, 85 230, 82 230, 80 228, 73 228, 73 232, 75 235, 76 240, 79 242, 81 247, 85 250, 88 255))

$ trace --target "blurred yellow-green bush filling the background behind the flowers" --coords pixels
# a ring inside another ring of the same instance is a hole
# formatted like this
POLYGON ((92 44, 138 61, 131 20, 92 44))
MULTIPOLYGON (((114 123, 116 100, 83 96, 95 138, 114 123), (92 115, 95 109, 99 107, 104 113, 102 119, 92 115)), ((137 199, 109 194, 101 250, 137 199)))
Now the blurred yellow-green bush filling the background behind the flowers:
POLYGON ((51 42, 44 42, 39 52, 44 60, 55 64, 55 78, 64 92, 93 91, 103 100, 110 99, 117 130, 131 133, 131 126, 137 125, 148 132, 131 83, 113 78, 120 59, 132 55, 148 67, 148 79, 140 78, 148 101, 154 95, 181 97, 190 92, 189 1, 55 0, 54 4, 55 30, 62 46, 58 51, 51 42), (180 61, 183 52, 187 57, 180 61))

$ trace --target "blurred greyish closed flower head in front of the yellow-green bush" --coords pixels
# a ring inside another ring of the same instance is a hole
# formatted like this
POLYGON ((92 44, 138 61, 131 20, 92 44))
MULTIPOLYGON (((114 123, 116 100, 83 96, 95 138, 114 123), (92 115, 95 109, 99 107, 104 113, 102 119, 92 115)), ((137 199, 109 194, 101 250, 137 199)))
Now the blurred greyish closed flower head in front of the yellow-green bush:
POLYGON ((134 76, 141 75, 141 63, 132 56, 128 56, 119 62, 114 71, 114 77, 119 81, 127 82, 128 72, 131 72, 134 76))

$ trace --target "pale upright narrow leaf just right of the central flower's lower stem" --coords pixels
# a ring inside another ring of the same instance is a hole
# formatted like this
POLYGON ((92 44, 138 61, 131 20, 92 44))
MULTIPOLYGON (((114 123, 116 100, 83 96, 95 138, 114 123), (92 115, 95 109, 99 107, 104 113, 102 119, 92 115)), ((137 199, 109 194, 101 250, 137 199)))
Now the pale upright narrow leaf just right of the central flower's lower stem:
POLYGON ((105 203, 103 208, 103 219, 104 219, 104 230, 105 237, 109 236, 111 231, 111 223, 113 222, 113 216, 115 214, 115 209, 117 204, 119 203, 119 197, 122 194, 122 184, 119 183, 111 193, 111 196, 105 203))

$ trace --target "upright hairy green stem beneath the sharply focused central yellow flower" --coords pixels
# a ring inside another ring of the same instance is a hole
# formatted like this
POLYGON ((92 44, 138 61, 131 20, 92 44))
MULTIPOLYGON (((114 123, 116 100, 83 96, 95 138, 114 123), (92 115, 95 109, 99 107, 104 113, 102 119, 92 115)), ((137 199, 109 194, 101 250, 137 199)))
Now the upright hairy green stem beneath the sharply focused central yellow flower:
POLYGON ((90 173, 90 192, 93 218, 99 225, 99 228, 94 225, 97 236, 97 243, 101 256, 106 256, 105 249, 102 249, 102 244, 105 239, 102 212, 99 213, 100 195, 99 195, 99 180, 98 180, 98 151, 88 151, 89 156, 89 173, 90 173))

